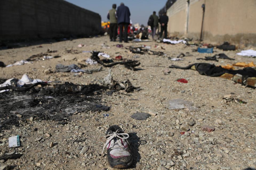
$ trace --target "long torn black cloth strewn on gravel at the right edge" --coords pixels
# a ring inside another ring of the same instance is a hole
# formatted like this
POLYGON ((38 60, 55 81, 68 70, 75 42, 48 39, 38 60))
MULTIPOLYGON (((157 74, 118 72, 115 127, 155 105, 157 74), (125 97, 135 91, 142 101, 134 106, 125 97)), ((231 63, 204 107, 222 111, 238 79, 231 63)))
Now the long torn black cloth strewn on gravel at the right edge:
POLYGON ((191 69, 192 66, 195 66, 195 69, 198 71, 199 74, 207 75, 211 77, 218 77, 224 73, 229 73, 233 75, 241 74, 242 76, 256 77, 256 70, 251 67, 246 67, 242 70, 229 70, 229 69, 224 69, 221 66, 215 66, 214 64, 209 64, 209 63, 194 63, 187 67, 179 67, 176 65, 171 65, 169 67, 176 68, 176 69, 191 69))

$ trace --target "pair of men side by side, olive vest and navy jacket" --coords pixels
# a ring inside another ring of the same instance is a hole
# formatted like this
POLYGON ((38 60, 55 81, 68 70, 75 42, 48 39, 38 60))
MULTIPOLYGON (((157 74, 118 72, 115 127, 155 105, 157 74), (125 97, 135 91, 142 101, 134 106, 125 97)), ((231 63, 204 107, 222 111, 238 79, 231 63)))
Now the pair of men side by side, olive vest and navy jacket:
POLYGON ((120 6, 117 8, 117 5, 113 4, 112 9, 109 10, 107 14, 107 18, 110 20, 110 41, 116 41, 116 33, 117 33, 117 25, 119 27, 119 42, 122 43, 123 35, 124 35, 124 42, 128 43, 128 35, 127 29, 128 25, 130 24, 130 10, 124 3, 121 3, 120 6), (124 28, 124 32, 123 32, 124 28))

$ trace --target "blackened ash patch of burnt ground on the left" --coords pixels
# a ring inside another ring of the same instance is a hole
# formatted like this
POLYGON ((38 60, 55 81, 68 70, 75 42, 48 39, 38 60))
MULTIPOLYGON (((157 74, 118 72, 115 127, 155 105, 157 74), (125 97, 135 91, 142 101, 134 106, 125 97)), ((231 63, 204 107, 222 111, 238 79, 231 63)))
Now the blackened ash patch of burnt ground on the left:
POLYGON ((17 91, 2 93, 0 96, 0 129, 10 129, 13 125, 19 125, 21 121, 29 121, 30 117, 34 117, 35 120, 66 122, 73 113, 107 111, 110 107, 101 103, 103 90, 105 89, 90 88, 89 93, 83 95, 81 93, 40 95, 17 91), (18 118, 17 114, 22 117, 18 118))

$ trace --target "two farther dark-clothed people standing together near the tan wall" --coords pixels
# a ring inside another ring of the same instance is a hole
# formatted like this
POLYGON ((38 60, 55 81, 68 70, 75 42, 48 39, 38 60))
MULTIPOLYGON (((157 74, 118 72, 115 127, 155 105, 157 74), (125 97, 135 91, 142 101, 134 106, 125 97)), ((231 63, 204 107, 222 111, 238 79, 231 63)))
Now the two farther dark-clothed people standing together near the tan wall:
POLYGON ((154 39, 155 34, 156 34, 156 30, 158 28, 158 23, 160 23, 161 25, 161 32, 159 35, 159 38, 162 38, 163 35, 163 31, 165 31, 165 39, 167 38, 167 23, 169 21, 168 16, 166 15, 166 12, 163 13, 163 15, 161 15, 159 18, 156 15, 156 12, 153 12, 153 15, 150 15, 149 17, 149 21, 148 21, 148 25, 151 27, 151 31, 152 31, 152 38, 154 39))

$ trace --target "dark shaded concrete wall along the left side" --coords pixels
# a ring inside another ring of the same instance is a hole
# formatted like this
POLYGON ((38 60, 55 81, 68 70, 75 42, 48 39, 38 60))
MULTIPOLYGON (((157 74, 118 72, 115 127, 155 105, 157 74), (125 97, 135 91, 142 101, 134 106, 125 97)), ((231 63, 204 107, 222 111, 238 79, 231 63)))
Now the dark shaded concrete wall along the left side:
POLYGON ((101 16, 63 0, 1 0, 0 40, 96 35, 101 16))

